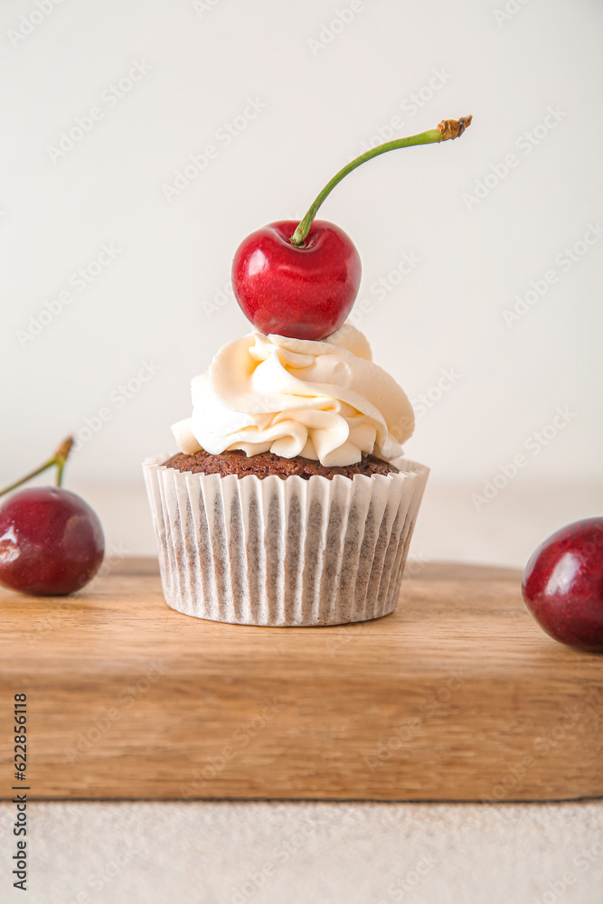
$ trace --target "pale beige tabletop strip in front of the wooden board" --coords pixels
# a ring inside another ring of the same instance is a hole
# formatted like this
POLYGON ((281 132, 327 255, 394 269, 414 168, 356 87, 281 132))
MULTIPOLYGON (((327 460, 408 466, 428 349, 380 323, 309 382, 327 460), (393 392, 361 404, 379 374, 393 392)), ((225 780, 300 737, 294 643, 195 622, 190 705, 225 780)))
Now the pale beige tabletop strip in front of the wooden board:
POLYGON ((601 801, 57 802, 30 817, 24 897, 7 882, 14 807, 0 805, 3 904, 603 900, 601 801))

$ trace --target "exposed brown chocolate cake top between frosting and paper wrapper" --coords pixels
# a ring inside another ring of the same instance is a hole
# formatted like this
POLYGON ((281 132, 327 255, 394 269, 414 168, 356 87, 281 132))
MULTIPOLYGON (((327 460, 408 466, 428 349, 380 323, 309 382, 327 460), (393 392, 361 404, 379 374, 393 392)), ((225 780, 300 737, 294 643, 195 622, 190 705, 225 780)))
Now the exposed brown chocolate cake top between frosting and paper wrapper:
POLYGON ((194 455, 177 455, 168 458, 164 462, 165 467, 174 467, 177 471, 193 471, 195 474, 220 474, 225 477, 228 474, 236 474, 238 477, 255 475, 260 479, 269 475, 282 477, 298 476, 309 480, 312 476, 328 477, 330 480, 335 474, 352 478, 356 474, 364 474, 368 477, 373 474, 398 474, 398 468, 382 461, 381 458, 369 455, 355 465, 341 467, 325 467, 319 461, 312 458, 282 458, 272 452, 259 452, 258 455, 247 457, 242 451, 222 452, 221 455, 211 455, 202 449, 194 455))

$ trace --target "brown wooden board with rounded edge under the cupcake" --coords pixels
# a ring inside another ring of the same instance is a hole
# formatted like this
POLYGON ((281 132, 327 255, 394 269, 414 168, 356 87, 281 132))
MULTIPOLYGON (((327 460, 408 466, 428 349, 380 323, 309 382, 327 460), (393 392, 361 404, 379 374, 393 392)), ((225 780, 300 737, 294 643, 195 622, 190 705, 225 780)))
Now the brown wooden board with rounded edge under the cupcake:
POLYGON ((545 636, 518 572, 415 565, 389 617, 259 628, 173 612, 149 561, 0 592, 2 796, 16 692, 38 799, 603 796, 603 656, 545 636))

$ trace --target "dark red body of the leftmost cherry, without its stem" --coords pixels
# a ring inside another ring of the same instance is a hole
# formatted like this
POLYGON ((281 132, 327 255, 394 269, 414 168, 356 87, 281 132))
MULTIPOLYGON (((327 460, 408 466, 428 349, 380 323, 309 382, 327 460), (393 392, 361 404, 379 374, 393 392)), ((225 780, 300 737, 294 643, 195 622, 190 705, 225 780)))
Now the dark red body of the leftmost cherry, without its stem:
POLYGON ((20 490, 0 508, 0 584, 35 596, 79 590, 100 568, 105 538, 99 517, 59 486, 20 490))

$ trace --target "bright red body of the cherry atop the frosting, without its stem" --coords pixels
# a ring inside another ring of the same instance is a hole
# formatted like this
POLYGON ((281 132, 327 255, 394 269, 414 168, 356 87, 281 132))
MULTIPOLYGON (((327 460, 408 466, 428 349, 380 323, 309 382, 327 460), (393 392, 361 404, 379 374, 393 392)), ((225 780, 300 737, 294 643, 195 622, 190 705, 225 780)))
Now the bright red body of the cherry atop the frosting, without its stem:
POLYGON ((232 287, 243 314, 262 333, 325 339, 352 310, 362 267, 353 241, 315 220, 305 247, 289 241, 297 221, 270 223, 248 235, 232 261, 232 287))

